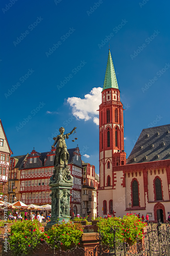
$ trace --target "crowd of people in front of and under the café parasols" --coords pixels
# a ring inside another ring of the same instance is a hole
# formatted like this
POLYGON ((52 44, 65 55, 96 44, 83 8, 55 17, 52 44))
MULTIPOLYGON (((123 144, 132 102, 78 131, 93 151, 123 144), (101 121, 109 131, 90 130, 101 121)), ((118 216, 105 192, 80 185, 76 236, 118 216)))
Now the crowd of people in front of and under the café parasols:
MULTIPOLYGON (((12 210, 12 214, 14 214, 13 212, 14 211, 12 210)), ((10 214, 8 215, 9 220, 14 220, 15 219, 12 214, 10 212, 10 214)), ((18 219, 18 220, 23 219, 22 216, 21 216, 21 212, 18 213, 17 210, 15 212, 15 215, 16 215, 16 219, 18 219)), ((51 214, 49 214, 47 216, 44 216, 41 211, 36 213, 36 212, 27 212, 27 210, 25 210, 25 212, 24 212, 24 220, 32 220, 33 221, 34 219, 35 220, 37 219, 39 222, 46 222, 46 220, 48 222, 50 220, 50 217, 51 217, 51 214)))

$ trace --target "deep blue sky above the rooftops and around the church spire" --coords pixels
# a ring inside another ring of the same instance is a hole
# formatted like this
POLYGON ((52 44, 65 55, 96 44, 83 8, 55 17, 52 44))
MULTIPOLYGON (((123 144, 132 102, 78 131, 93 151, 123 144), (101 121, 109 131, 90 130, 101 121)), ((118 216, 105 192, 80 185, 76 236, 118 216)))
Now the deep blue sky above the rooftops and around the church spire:
POLYGON ((127 156, 143 128, 169 124, 169 7, 166 0, 1 1, 0 118, 14 155, 49 151, 59 127, 76 126, 78 140, 70 136, 67 146, 78 143, 99 173, 101 96, 93 88, 103 86, 109 43, 127 156))

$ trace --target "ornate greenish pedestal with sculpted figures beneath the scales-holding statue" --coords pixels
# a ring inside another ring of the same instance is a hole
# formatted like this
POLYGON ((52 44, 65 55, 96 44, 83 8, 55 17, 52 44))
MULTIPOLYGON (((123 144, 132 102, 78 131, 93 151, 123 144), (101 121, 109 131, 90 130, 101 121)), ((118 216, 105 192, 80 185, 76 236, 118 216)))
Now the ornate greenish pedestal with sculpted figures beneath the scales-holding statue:
POLYGON ((62 220, 70 220, 70 189, 73 186, 73 177, 69 166, 56 166, 50 178, 51 189, 51 218, 45 226, 45 230, 51 228, 62 220))

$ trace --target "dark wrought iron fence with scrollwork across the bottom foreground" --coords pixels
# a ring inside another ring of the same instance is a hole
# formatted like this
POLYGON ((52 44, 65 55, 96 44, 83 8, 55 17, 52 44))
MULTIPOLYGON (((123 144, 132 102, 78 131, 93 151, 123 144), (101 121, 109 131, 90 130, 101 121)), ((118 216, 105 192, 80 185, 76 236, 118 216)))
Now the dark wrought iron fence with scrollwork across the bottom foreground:
POLYGON ((2 240, 1 256, 170 256, 170 226, 167 223, 163 226, 161 222, 150 223, 142 241, 137 238, 133 245, 129 245, 125 238, 124 241, 118 239, 117 232, 120 232, 119 227, 112 226, 110 233, 113 235, 113 246, 110 246, 111 243, 103 244, 103 234, 99 232, 93 249, 76 247, 64 251, 59 238, 54 237, 54 244, 48 244, 45 240, 38 239, 31 228, 29 246, 23 244, 22 240, 10 244, 9 236, 7 242, 2 240))

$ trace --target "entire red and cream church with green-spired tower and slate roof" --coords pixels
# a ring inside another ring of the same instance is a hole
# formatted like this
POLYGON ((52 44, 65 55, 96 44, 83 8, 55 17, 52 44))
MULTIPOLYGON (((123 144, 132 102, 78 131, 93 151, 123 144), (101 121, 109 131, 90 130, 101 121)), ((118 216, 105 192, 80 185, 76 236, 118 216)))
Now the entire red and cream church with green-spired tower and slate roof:
POLYGON ((101 93, 98 216, 123 217, 131 211, 165 222, 170 211, 170 125, 143 129, 126 159, 124 109, 110 49, 101 93))

